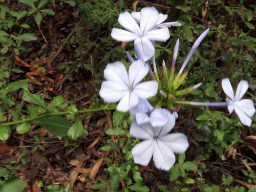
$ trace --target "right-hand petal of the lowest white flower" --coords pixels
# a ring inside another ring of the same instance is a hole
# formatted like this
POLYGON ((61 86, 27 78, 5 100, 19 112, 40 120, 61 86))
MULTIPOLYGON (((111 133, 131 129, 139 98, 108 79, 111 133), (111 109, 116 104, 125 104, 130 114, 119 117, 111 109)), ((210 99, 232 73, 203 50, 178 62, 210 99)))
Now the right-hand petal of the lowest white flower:
POLYGON ((187 150, 188 141, 187 137, 183 133, 172 133, 162 137, 159 137, 158 140, 161 140, 169 147, 174 153, 182 154, 187 150))

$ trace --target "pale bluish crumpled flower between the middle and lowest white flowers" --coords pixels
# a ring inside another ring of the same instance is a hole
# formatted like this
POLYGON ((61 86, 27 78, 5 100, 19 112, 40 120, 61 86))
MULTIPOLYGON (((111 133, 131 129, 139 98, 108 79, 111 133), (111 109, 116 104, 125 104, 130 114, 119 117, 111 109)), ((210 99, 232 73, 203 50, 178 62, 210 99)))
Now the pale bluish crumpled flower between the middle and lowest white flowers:
POLYGON ((146 99, 140 99, 138 104, 130 110, 130 114, 136 117, 136 121, 139 125, 151 123, 153 127, 164 126, 172 119, 170 116, 174 116, 166 109, 154 109, 146 99))

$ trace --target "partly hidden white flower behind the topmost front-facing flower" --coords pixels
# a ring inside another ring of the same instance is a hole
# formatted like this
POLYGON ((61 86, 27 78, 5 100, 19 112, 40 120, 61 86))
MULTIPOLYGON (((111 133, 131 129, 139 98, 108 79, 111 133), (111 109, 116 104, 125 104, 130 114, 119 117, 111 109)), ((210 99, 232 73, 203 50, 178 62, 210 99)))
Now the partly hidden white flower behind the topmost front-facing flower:
MULTIPOLYGON (((133 18, 136 20, 137 23, 140 22, 140 11, 138 11, 138 12, 133 11, 131 15, 133 16, 133 18)), ((156 25, 155 29, 164 28, 164 27, 170 28, 172 26, 174 26, 174 27, 180 27, 181 26, 181 24, 179 22, 163 23, 168 17, 167 14, 159 13, 158 16, 159 17, 158 17, 158 21, 157 21, 157 25, 156 25)))

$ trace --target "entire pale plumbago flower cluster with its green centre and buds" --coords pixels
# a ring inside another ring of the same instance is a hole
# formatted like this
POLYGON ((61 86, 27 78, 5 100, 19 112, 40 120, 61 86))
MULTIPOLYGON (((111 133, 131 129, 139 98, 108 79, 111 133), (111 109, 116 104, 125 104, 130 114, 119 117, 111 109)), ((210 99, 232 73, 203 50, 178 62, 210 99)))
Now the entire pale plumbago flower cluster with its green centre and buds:
POLYGON ((229 113, 236 112, 240 121, 247 126, 251 125, 251 117, 255 113, 254 103, 250 99, 242 99, 248 89, 248 82, 240 81, 234 96, 231 84, 227 78, 222 80, 222 88, 229 97, 226 102, 205 103, 178 100, 176 97, 185 95, 201 86, 198 83, 193 87, 178 90, 186 78, 184 72, 189 59, 200 45, 209 29, 206 29, 195 41, 183 65, 174 78, 175 63, 179 49, 179 39, 176 42, 172 68, 167 72, 163 61, 163 82, 160 80, 155 62, 155 41, 166 41, 169 38, 171 26, 179 27, 178 22, 163 23, 166 14, 159 13, 154 7, 142 8, 140 12, 124 12, 119 15, 118 22, 125 29, 113 28, 111 36, 119 41, 134 41, 136 58, 126 52, 131 65, 127 72, 122 62, 109 63, 104 70, 105 81, 101 84, 100 97, 108 103, 117 104, 117 111, 128 112, 135 116, 130 134, 132 137, 144 140, 132 150, 135 163, 148 165, 152 159, 157 168, 169 170, 175 163, 174 153, 181 154, 187 150, 188 140, 182 133, 169 132, 174 128, 177 112, 173 104, 190 104, 202 106, 227 106, 229 113), (138 25, 139 24, 139 25, 138 25), (154 74, 151 70, 150 59, 153 59, 154 74), (147 80, 146 76, 151 80, 147 80), (154 80, 155 79, 155 80, 154 80), (159 95, 156 108, 147 100, 159 95), (164 104, 167 101, 169 105, 164 104), (167 109, 161 108, 162 103, 167 109), (172 112, 171 112, 171 111, 172 112))

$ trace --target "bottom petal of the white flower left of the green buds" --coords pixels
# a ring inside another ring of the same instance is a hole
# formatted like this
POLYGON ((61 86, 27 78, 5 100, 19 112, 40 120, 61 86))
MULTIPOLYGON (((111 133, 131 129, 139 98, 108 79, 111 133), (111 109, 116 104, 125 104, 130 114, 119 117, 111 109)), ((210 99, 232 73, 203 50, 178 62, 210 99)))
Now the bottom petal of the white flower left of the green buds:
POLYGON ((119 101, 116 110, 121 112, 127 112, 139 102, 139 98, 133 92, 126 93, 119 101))

